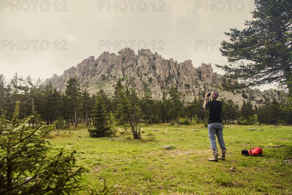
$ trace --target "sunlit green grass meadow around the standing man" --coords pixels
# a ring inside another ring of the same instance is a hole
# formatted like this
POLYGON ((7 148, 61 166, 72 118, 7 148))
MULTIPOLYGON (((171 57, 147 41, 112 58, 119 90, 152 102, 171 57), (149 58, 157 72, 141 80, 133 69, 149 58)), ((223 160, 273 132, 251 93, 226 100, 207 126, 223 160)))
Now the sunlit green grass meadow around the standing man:
MULTIPOLYGON (((81 183, 100 188, 103 179, 118 185, 116 195, 289 195, 292 192, 291 126, 224 126, 225 161, 209 162, 207 128, 142 125, 141 141, 91 138, 86 128, 52 133, 51 153, 76 150, 77 165, 87 168, 81 183), (246 131, 248 128, 263 131, 246 131), (157 129, 159 131, 153 131, 157 129), (170 145, 172 149, 164 149, 170 145), (284 147, 272 148, 275 145, 284 147), (262 146, 263 157, 241 150, 262 146), (269 146, 269 147, 266 147, 269 146), (235 171, 230 171, 235 167, 235 171)), ((218 145, 219 146, 219 145, 218 145)), ((81 194, 87 194, 85 191, 81 194)))

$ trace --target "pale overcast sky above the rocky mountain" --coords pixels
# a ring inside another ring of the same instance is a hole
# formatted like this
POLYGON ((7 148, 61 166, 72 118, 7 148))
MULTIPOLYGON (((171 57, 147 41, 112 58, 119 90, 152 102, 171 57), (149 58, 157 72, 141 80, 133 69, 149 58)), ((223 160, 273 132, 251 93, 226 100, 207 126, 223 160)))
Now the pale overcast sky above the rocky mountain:
MULTIPOLYGON (((165 59, 226 64, 230 28, 252 19, 253 0, 1 0, 0 73, 46 79, 104 51, 147 48, 165 59)), ((265 86, 263 89, 271 88, 265 86)))

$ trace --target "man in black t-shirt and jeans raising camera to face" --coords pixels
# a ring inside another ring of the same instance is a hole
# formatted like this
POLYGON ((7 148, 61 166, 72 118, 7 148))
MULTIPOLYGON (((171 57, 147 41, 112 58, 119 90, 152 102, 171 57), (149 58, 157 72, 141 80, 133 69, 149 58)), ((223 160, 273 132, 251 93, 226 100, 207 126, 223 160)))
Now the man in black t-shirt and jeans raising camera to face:
POLYGON ((212 93, 206 93, 204 100, 204 108, 209 108, 209 119, 208 119, 208 134, 210 139, 210 145, 213 153, 213 158, 208 159, 209 161, 225 160, 226 147, 223 139, 223 124, 221 118, 222 102, 218 101, 219 94, 217 91, 212 93), (208 102, 208 97, 211 96, 211 101, 208 102), (218 149, 216 145, 217 136, 220 148, 221 156, 218 157, 218 149))

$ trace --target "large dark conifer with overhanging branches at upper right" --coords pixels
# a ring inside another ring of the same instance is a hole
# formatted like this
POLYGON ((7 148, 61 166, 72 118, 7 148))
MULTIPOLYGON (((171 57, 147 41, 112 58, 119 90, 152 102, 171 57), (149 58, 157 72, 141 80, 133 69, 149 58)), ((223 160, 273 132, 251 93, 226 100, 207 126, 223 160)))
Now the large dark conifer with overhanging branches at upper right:
MULTIPOLYGON (((292 1, 255 0, 253 20, 243 30, 225 33, 220 52, 231 64, 217 67, 242 82, 226 83, 227 89, 242 89, 273 82, 283 83, 292 93, 292 1)), ((230 80, 232 81, 232 80, 230 80)))

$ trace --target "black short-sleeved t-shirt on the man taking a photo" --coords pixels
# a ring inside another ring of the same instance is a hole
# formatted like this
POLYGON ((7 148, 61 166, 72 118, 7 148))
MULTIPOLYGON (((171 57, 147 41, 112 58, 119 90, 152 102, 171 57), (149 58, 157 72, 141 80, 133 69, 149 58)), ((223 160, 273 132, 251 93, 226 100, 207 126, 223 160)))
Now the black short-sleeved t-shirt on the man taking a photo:
POLYGON ((209 108, 208 124, 222 123, 222 118, 221 118, 222 102, 214 100, 214 101, 208 102, 205 105, 205 107, 209 108))

